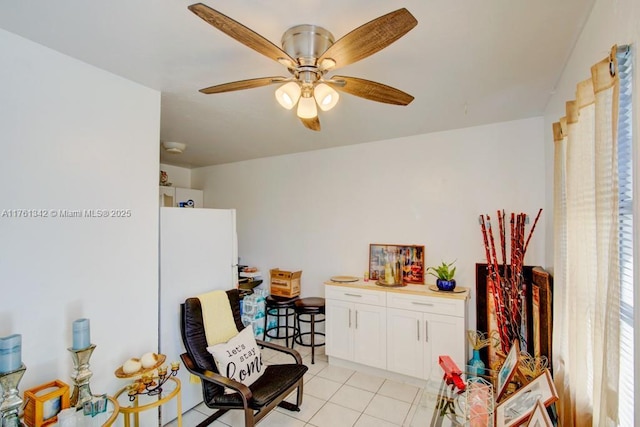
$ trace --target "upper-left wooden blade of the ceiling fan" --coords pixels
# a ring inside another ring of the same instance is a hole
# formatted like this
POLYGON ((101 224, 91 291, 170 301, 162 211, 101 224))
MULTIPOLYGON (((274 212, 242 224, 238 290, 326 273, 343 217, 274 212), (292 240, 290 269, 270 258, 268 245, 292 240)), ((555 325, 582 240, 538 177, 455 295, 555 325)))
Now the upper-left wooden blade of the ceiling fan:
POLYGON ((290 61, 291 66, 295 66, 296 61, 285 51, 262 37, 260 34, 245 27, 241 23, 234 21, 228 16, 223 15, 217 10, 211 9, 209 6, 202 3, 192 4, 189 6, 189 10, 229 37, 236 39, 256 52, 281 63, 287 63, 290 61))

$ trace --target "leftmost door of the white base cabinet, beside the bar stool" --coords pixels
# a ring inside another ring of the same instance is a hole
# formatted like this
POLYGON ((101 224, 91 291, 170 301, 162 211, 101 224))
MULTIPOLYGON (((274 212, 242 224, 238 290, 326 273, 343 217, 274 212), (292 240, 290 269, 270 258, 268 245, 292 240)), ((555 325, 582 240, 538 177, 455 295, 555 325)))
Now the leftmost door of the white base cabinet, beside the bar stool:
POLYGON ((353 303, 328 299, 326 302, 326 344, 328 356, 353 360, 353 303))

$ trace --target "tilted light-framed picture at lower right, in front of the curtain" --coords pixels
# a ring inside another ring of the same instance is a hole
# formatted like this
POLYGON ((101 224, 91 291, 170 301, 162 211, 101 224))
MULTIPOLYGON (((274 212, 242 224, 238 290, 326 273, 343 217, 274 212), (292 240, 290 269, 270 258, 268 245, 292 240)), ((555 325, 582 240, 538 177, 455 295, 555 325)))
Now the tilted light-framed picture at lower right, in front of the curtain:
POLYGON ((553 385, 551 373, 545 369, 543 374, 498 404, 496 427, 521 425, 532 415, 538 401, 547 407, 556 400, 558 393, 553 385))

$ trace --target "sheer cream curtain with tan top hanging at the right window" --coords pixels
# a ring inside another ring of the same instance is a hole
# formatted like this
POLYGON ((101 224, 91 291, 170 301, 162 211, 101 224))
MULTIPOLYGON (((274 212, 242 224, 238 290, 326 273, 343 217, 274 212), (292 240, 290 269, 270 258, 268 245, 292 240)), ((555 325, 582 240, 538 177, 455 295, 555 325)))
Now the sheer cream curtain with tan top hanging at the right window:
POLYGON ((616 47, 554 124, 553 365, 563 426, 618 424, 616 47))

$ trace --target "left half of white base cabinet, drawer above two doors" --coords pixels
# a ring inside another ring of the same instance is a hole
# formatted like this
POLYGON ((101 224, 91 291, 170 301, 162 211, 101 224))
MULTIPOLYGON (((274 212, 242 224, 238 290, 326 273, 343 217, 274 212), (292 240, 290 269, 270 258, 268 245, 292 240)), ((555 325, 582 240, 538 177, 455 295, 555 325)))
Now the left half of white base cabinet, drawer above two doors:
POLYGON ((364 289, 327 286, 326 353, 386 369, 386 295, 364 289))

